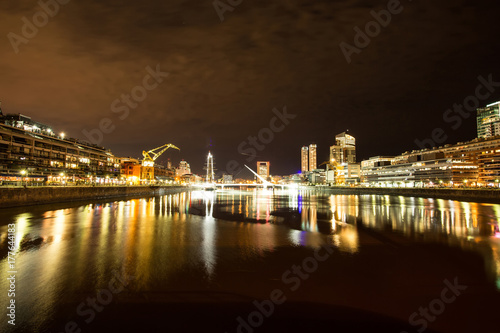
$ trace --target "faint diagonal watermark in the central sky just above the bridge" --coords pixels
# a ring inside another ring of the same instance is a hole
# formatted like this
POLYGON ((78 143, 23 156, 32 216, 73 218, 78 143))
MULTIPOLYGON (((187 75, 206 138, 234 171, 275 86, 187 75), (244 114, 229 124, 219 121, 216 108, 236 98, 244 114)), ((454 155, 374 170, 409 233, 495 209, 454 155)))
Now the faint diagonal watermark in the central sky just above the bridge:
MULTIPOLYGON (((282 111, 273 109, 274 117, 269 120, 269 126, 259 130, 257 135, 249 135, 238 145, 238 153, 246 155, 247 162, 252 162, 257 157, 257 152, 263 151, 266 145, 274 140, 275 133, 282 132, 290 124, 290 120, 297 117, 296 114, 288 113, 286 105, 282 111)), ((236 160, 231 160, 226 164, 228 174, 237 174, 243 169, 243 166, 236 160)))

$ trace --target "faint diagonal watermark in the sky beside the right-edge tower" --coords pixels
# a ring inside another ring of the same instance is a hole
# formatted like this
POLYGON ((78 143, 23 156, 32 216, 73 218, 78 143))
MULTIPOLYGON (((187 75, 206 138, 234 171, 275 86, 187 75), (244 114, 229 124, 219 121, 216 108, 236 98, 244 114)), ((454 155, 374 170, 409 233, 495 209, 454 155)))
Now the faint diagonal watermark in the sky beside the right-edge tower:
MULTIPOLYGON (((443 120, 447 124, 452 124, 451 128, 457 130, 462 126, 463 119, 469 118, 475 114, 476 109, 479 107, 481 101, 488 99, 491 94, 500 87, 500 82, 493 81, 493 75, 489 74, 487 78, 483 76, 477 77, 479 84, 476 86, 474 95, 467 96, 461 104, 454 103, 453 108, 447 109, 443 113, 443 120)), ((424 148, 433 148, 448 139, 448 135, 441 127, 436 127, 432 130, 429 138, 415 139, 415 144, 424 148)))

